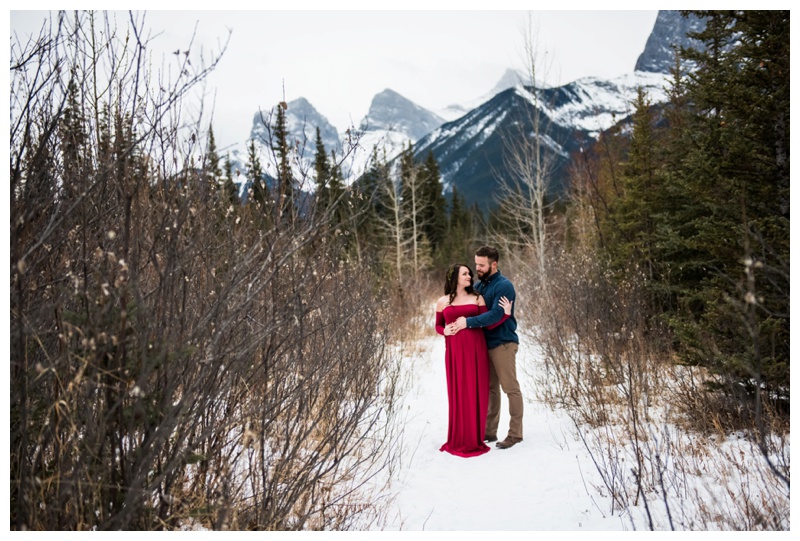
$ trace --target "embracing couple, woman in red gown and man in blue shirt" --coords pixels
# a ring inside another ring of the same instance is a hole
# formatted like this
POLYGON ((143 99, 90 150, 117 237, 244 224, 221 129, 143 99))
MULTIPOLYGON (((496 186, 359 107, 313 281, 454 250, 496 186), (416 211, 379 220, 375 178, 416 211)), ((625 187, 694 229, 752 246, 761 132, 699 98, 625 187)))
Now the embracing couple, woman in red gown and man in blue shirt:
POLYGON ((472 270, 454 264, 447 270, 444 296, 436 303, 436 332, 445 337, 449 422, 441 451, 462 457, 489 451, 497 440, 500 388, 508 397, 508 449, 522 441, 522 394, 516 373, 519 338, 514 286, 497 269, 499 254, 490 246, 475 252, 480 282, 472 270))

